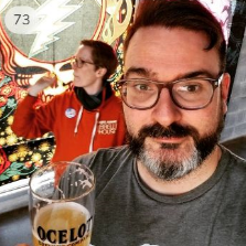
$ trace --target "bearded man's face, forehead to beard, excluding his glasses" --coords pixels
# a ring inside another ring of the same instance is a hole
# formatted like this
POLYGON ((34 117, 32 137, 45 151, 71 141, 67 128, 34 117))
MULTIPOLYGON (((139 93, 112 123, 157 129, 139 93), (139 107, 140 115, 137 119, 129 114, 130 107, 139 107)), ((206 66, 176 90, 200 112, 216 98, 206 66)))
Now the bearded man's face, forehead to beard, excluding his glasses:
MULTIPOLYGON (((167 83, 188 74, 217 78, 218 53, 216 49, 204 50, 207 44, 203 33, 159 26, 140 29, 126 53, 126 76, 167 83)), ((228 79, 223 81, 222 89, 215 89, 211 104, 203 109, 179 108, 167 88, 150 109, 131 109, 124 104, 130 149, 156 178, 180 179, 213 152, 226 111, 228 79)))

